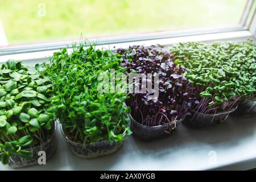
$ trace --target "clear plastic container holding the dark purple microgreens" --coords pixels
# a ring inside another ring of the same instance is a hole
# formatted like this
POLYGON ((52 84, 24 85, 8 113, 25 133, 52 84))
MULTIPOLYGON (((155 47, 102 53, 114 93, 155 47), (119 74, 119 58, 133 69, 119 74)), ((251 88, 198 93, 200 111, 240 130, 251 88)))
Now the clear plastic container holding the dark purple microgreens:
POLYGON ((170 135, 176 130, 176 125, 179 124, 183 119, 177 120, 170 125, 159 125, 159 126, 146 126, 135 121, 131 115, 130 128, 133 131, 133 135, 143 140, 154 140, 170 135), (166 132, 168 131, 168 133, 166 132))

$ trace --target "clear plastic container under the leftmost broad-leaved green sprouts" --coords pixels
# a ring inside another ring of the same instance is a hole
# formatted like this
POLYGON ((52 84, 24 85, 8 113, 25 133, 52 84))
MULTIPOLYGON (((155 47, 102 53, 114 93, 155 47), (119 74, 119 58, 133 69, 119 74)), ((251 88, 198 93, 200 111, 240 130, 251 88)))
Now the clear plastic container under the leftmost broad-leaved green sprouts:
POLYGON ((39 151, 46 152, 46 160, 51 158, 51 156, 56 151, 56 146, 57 146, 56 129, 57 129, 57 125, 55 122, 55 131, 52 134, 51 138, 49 138, 46 142, 41 143, 40 146, 26 149, 28 151, 33 152, 32 156, 30 158, 20 158, 19 155, 11 155, 9 158, 9 162, 6 164, 6 166, 10 167, 10 168, 20 168, 20 167, 38 164, 38 159, 41 156, 41 155, 38 155, 39 151))

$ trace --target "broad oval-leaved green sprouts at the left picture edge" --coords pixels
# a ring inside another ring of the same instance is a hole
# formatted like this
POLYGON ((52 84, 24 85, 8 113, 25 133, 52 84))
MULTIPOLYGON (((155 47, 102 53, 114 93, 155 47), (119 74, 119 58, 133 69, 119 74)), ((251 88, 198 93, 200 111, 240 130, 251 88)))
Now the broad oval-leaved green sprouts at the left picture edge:
POLYGON ((51 137, 53 118, 47 113, 52 85, 43 76, 44 67, 26 67, 21 62, 7 61, 0 69, 0 159, 28 158, 32 151, 51 137))

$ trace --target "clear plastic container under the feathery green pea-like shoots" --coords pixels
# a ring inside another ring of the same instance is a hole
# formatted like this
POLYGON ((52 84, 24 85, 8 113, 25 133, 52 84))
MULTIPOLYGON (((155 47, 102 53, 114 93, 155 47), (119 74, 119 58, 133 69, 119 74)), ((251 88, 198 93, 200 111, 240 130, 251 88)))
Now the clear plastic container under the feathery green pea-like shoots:
MULTIPOLYGON (((117 142, 115 140, 113 140, 112 144, 110 144, 109 140, 102 140, 100 142, 90 144, 73 142, 64 134, 62 126, 61 133, 63 134, 65 140, 68 142, 73 154, 84 159, 96 158, 97 156, 112 154, 122 146, 122 142, 117 142)), ((125 136, 125 134, 123 134, 123 136, 125 136)))

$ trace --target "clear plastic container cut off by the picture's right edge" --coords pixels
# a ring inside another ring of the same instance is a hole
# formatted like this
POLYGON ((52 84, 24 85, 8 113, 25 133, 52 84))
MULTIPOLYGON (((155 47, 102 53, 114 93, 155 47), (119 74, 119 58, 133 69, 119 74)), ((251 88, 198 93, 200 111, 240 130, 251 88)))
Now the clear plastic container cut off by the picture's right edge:
POLYGON ((236 115, 238 116, 256 115, 256 101, 242 100, 238 104, 236 115))

